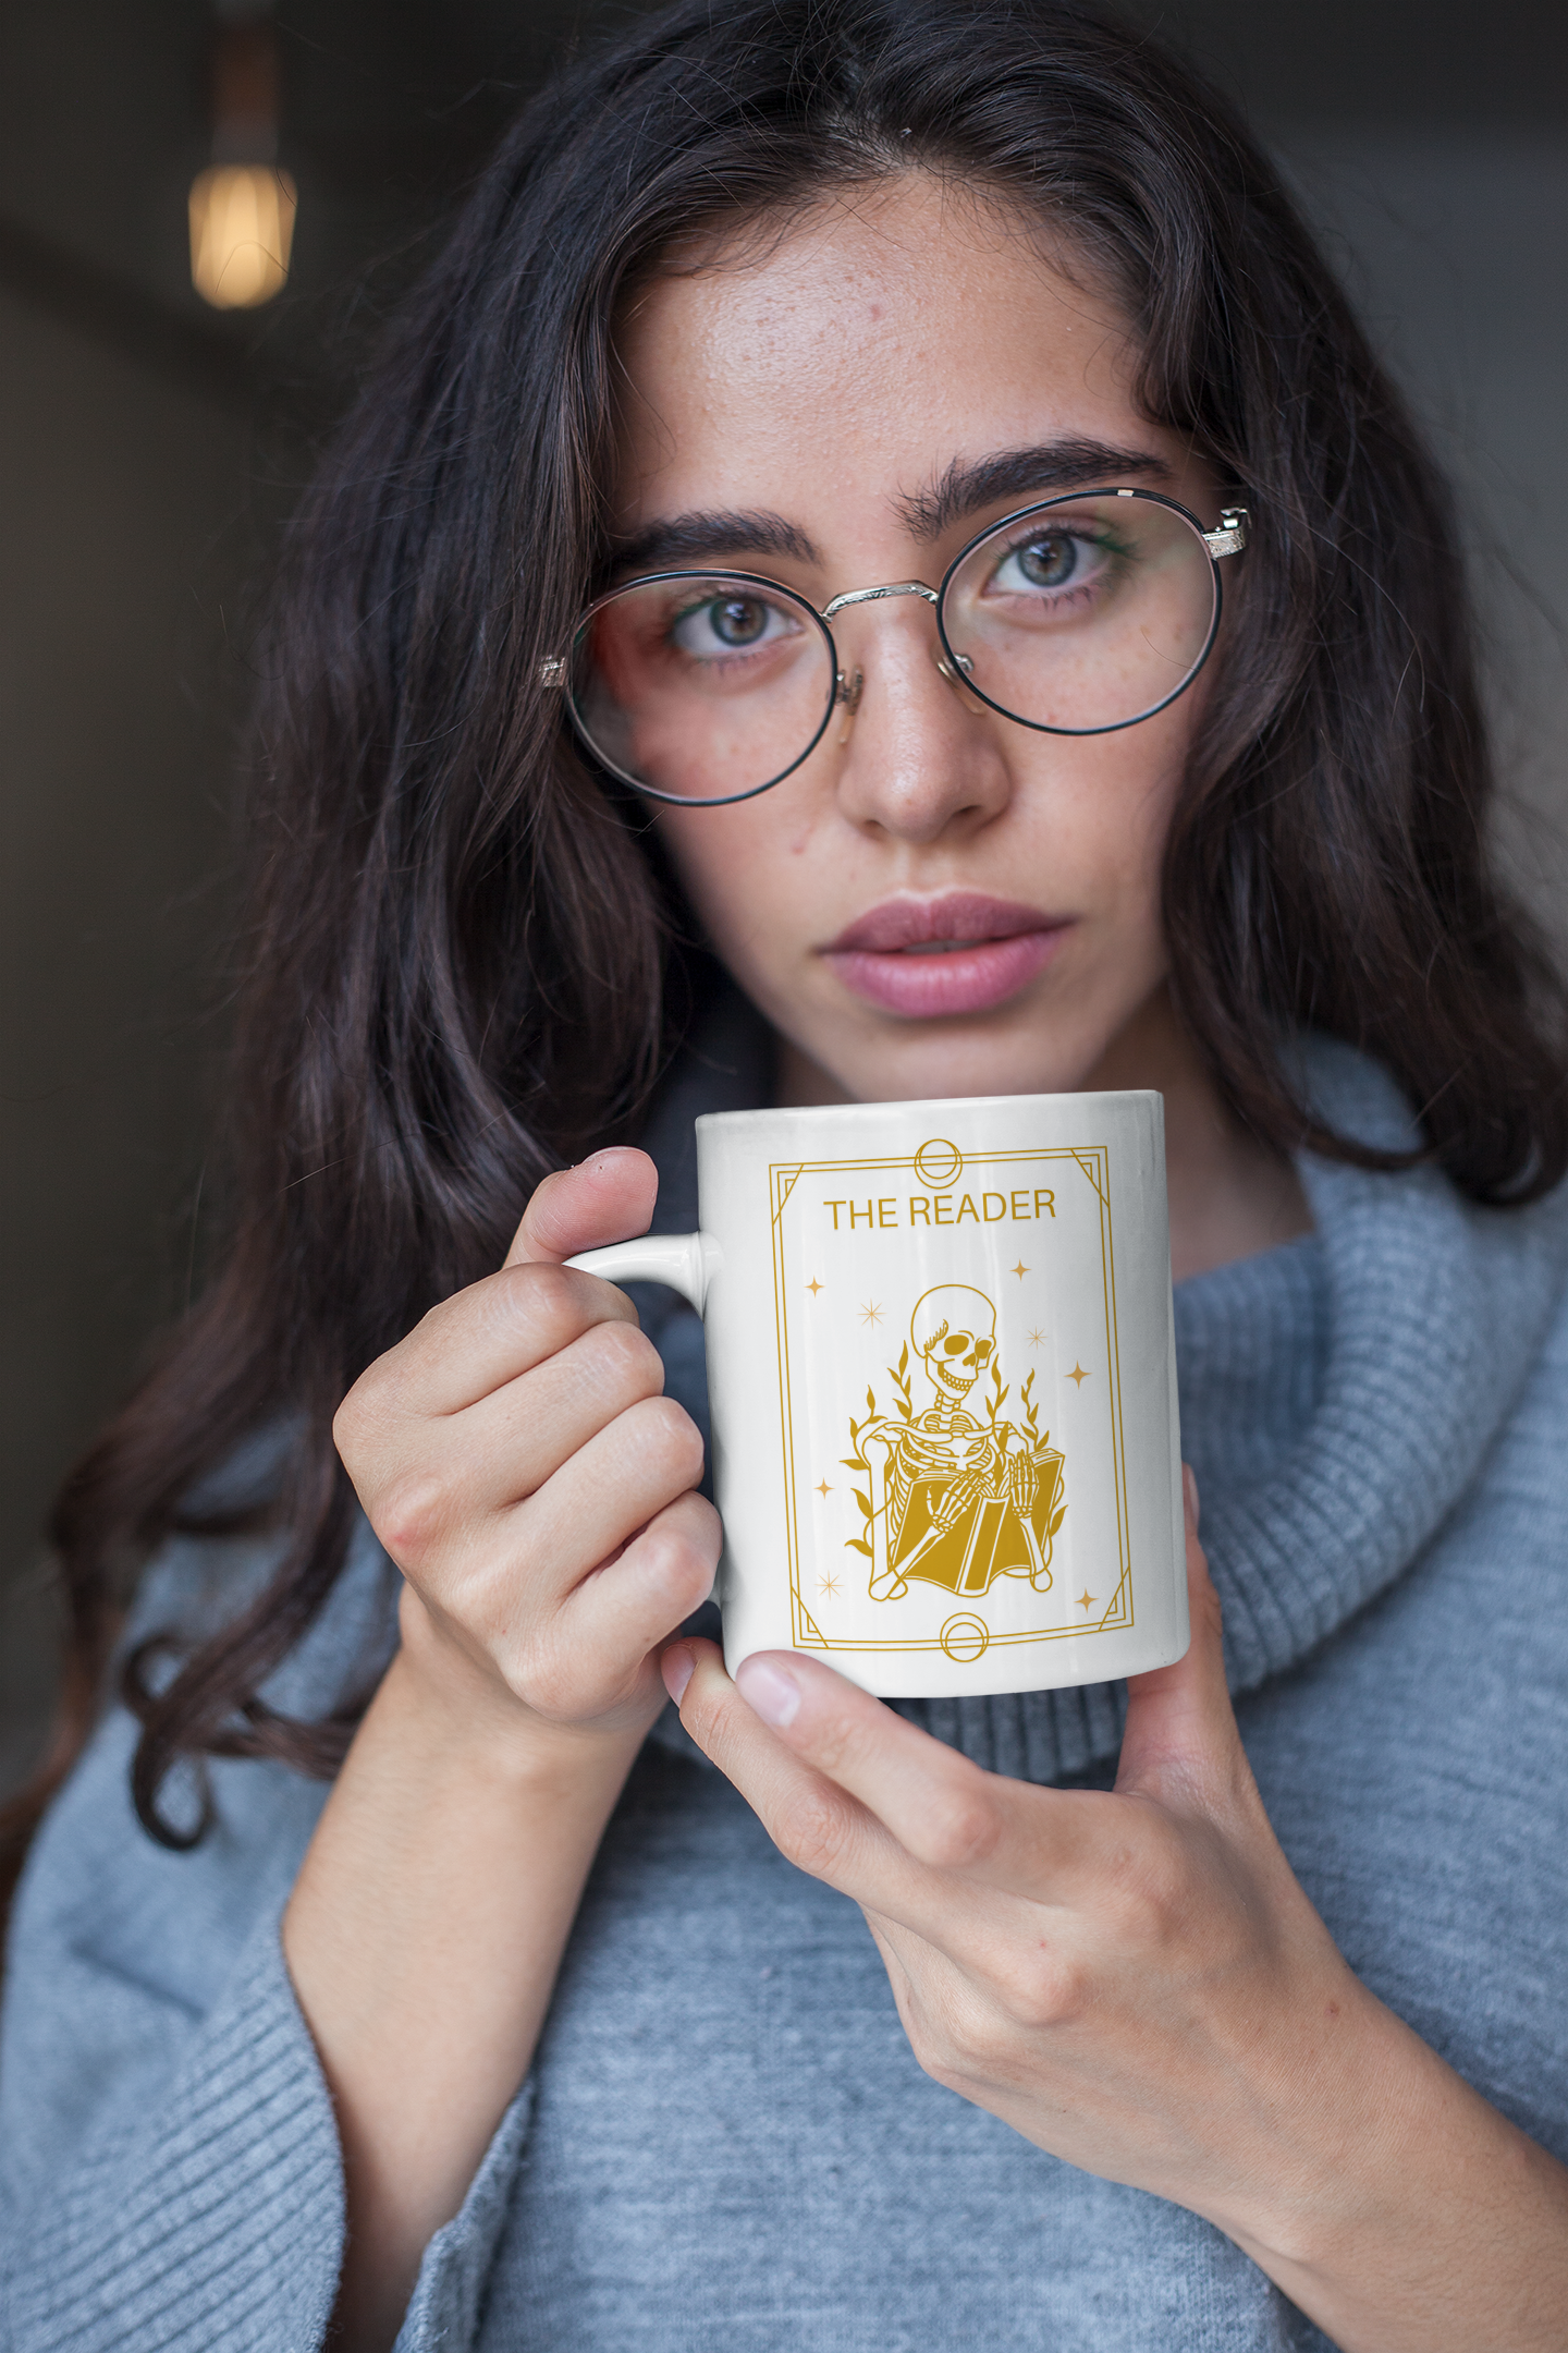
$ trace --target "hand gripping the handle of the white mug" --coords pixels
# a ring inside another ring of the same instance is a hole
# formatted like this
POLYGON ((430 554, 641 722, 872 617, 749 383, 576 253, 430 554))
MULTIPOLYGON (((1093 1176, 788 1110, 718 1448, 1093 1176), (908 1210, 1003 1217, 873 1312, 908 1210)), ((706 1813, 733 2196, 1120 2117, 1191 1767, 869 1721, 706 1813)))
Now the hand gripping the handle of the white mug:
POLYGON ((646 1732, 656 1649, 712 1591, 703 1440, 623 1292, 559 1259, 642 1233, 658 1176, 607 1151, 548 1176, 505 1266, 350 1388, 334 1438, 407 1579, 433 1704, 531 1729, 646 1732))

